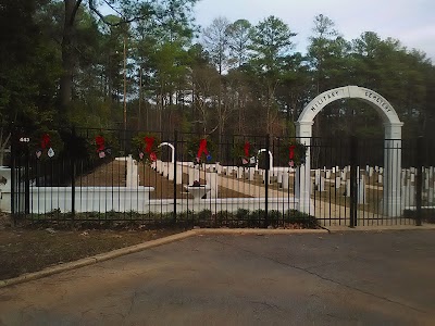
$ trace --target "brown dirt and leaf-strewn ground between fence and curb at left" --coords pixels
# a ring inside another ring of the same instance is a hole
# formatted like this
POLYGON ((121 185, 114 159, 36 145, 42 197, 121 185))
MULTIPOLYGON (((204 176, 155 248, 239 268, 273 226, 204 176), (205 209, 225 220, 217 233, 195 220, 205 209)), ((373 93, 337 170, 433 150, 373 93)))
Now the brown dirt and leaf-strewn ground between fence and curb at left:
POLYGON ((0 218, 0 279, 41 271, 111 250, 162 238, 181 229, 54 229, 13 227, 0 218))

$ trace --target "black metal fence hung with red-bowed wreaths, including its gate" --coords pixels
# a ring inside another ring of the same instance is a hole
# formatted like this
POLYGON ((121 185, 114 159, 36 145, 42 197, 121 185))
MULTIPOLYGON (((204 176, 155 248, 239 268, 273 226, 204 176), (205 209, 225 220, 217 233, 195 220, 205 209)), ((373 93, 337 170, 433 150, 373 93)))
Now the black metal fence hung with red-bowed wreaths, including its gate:
POLYGON ((353 227, 420 224, 435 206, 434 146, 421 139, 27 133, 12 137, 16 221, 353 227))

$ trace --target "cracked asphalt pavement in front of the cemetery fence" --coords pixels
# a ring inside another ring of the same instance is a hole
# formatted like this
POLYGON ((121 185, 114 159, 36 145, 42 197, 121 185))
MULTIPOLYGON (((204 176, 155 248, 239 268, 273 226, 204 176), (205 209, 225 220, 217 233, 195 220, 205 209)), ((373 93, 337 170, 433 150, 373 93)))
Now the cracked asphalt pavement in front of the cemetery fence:
POLYGON ((0 289, 0 325, 435 325, 435 231, 196 236, 0 289))

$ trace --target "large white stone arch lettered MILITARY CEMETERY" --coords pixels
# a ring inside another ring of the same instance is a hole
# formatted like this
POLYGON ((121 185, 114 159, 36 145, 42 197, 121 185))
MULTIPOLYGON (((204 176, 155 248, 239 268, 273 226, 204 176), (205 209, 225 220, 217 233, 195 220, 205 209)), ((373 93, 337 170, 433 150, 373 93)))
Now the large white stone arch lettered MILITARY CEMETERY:
MULTIPOLYGON (((401 172, 401 127, 396 110, 377 92, 358 86, 345 86, 327 90, 313 99, 299 115, 296 123, 296 137, 306 146, 310 146, 314 117, 327 104, 340 99, 358 99, 376 110, 385 127, 384 146, 384 214, 398 216, 401 214, 400 172, 401 172)), ((307 151, 306 164, 296 172, 299 210, 313 214, 310 199, 310 151, 307 151)))

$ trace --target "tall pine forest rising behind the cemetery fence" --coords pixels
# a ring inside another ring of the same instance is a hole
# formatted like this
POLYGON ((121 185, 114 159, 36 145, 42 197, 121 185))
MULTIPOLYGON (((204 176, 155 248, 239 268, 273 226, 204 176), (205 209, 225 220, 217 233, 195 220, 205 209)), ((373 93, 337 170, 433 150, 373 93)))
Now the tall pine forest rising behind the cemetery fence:
MULTIPOLYGON (((313 15, 304 53, 298 26, 215 17, 195 23, 196 0, 3 0, 0 4, 0 142, 11 122, 32 130, 126 128, 294 136, 315 96, 347 85, 385 97, 403 138, 435 137, 435 67, 398 39, 345 39, 313 15), (111 14, 107 14, 110 12, 111 14)), ((383 137, 358 100, 336 101, 314 136, 383 137)))

